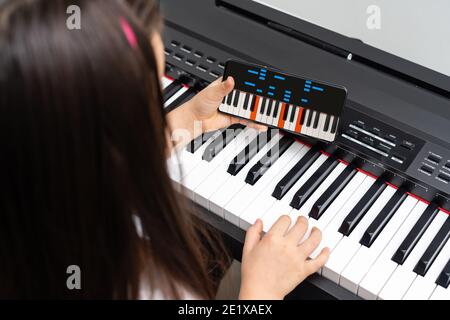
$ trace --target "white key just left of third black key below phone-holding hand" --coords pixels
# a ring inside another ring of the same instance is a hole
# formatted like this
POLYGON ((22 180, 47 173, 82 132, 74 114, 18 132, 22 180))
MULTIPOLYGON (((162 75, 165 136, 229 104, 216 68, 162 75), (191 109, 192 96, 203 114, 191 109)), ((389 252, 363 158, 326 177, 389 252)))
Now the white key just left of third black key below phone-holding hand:
POLYGON ((231 153, 226 159, 217 166, 212 172, 194 191, 194 200, 198 204, 205 208, 208 207, 209 198, 231 177, 231 174, 227 172, 230 162, 236 157, 236 155, 242 151, 243 146, 248 145, 258 135, 257 130, 249 128, 243 141, 236 144, 235 152, 231 153))

